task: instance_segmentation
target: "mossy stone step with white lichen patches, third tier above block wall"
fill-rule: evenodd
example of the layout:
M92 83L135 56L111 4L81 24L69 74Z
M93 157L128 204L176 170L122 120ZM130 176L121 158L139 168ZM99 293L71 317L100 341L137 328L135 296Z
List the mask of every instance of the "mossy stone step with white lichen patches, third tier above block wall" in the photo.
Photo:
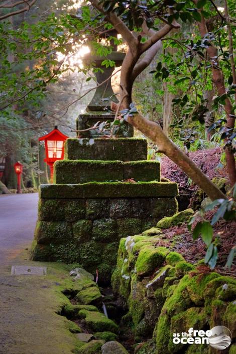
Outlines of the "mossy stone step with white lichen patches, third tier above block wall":
M146 139L67 139L65 159L68 160L147 160Z

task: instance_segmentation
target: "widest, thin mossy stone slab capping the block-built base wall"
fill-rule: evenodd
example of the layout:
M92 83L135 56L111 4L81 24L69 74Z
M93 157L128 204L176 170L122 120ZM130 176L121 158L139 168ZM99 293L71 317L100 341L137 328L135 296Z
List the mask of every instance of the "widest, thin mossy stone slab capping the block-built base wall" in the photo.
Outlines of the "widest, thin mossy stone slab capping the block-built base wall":
M41 184L40 198L149 198L175 197L177 183L172 182L89 182L83 184Z

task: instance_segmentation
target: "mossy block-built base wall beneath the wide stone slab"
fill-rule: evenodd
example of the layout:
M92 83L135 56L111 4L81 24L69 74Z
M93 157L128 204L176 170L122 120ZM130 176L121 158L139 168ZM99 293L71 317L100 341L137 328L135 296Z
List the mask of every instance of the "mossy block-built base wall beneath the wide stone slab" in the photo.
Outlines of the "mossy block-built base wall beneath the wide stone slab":
M156 225L177 207L175 198L41 198L33 259L78 262L108 281L120 239Z

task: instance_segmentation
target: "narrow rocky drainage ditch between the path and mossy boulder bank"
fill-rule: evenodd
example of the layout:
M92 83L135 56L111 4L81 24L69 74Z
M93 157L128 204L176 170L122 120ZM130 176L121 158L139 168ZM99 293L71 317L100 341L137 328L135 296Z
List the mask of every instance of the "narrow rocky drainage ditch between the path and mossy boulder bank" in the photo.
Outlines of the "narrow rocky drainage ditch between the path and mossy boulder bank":
M81 302L78 301L77 290L64 290L62 293L69 299L71 307L68 305L64 305L60 312L58 312L58 314L65 316L67 319L73 321L79 327L78 330L76 330L76 326L72 326L70 329L71 332L77 332L76 335L79 341L82 341L85 344L89 344L93 341L94 346L95 340L103 340L103 342L118 341L126 348L129 353L133 354L135 343L134 333L132 331L132 322L129 319L129 315L127 315L128 309L124 303L124 300L119 296L114 296L110 286L106 285L106 287L98 288L95 282L92 283L93 284L91 284L90 282L90 286L89 284L86 284L85 288L87 288L89 293L89 289L90 291L93 291L94 286L96 286L97 290L101 294L100 299L98 298L94 299L91 302L89 301L89 304L84 304L83 302L83 304L81 305ZM88 316L86 316L87 314ZM97 314L99 315L98 317L102 315L103 318L105 316L106 319L110 321L110 324L108 323L108 321L106 323L104 322L103 324L99 324L99 318L95 319L95 322L92 322L92 320L89 321L89 314L91 314L92 316L95 316L95 314ZM117 330L113 330L114 326L112 327L111 322L113 322ZM84 346L84 348L81 347L81 349L79 348L78 351L75 350L75 352L78 352L79 354L85 354L87 353L87 350ZM95 353L95 351L91 352ZM112 351L109 351L109 353L112 354ZM123 353L122 350L121 353Z

